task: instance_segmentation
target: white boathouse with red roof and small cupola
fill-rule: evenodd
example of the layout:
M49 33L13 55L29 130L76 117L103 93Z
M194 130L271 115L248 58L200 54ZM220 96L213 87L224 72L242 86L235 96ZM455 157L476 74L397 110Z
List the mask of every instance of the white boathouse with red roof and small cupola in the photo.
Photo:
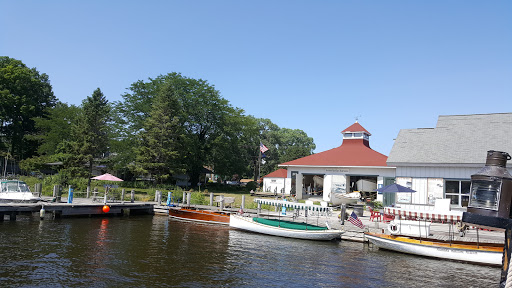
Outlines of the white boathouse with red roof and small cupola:
M287 169L285 194L297 199L320 196L331 202L332 193L360 191L375 197L378 185L394 182L395 168L387 156L370 148L370 132L357 121L341 132L342 144L279 166Z

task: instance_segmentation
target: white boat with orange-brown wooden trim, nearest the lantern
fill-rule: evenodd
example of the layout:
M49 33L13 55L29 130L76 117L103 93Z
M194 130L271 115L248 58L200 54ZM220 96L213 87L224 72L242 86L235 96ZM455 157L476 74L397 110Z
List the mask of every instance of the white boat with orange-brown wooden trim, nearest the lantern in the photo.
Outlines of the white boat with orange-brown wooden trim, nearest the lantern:
M470 263L501 266L504 244L442 241L366 232L365 237L382 249L402 253L456 260Z

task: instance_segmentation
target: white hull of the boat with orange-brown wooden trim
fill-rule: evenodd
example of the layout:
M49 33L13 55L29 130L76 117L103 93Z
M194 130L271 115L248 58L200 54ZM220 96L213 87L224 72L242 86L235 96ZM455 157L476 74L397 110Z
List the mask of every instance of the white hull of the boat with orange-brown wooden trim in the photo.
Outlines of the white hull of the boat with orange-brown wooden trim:
M379 248L441 259L480 263L487 265L501 265L503 252L482 251L472 249L459 249L452 247L428 246L414 243L404 243L397 240L365 235L370 242Z

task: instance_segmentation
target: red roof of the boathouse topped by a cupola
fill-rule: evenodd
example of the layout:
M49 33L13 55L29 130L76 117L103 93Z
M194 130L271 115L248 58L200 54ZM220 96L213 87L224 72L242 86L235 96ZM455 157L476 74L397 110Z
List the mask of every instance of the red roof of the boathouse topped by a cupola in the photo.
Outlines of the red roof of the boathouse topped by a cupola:
M357 124L357 123L356 123ZM354 125L352 125L354 126ZM352 127L351 126L351 127ZM350 128L350 127L349 127ZM347 128L347 129L349 129ZM364 128L363 128L364 129ZM361 130L359 130L360 132ZM282 163L283 166L387 166L388 156L369 147L363 139L345 139L337 148Z

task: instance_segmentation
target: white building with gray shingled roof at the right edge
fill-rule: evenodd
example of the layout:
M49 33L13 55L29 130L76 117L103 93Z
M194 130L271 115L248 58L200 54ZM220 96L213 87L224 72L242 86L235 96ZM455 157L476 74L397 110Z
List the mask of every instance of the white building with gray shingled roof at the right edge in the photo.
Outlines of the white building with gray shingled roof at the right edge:
M398 193L396 203L449 198L452 207L467 207L471 175L488 150L512 154L512 113L439 116L435 128L400 130L387 165L396 167L398 184L417 192Z

